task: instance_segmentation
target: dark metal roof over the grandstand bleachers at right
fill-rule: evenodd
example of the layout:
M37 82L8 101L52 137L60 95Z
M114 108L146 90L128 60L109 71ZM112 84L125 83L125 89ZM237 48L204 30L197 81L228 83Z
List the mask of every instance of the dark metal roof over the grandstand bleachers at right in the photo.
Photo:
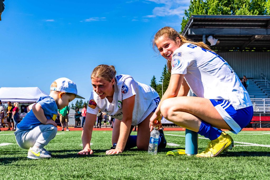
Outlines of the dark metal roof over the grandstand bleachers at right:
M192 15L182 35L196 42L212 35L219 52L229 50L270 50L270 16ZM206 44L210 43L206 40ZM255 48L255 49L254 49Z

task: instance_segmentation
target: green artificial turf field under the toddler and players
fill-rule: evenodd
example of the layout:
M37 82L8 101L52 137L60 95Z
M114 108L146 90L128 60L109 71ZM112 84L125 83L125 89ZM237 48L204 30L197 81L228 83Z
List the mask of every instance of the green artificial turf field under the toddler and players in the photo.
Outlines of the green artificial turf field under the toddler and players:
M167 151L184 149L183 132L165 131L180 135L165 135L168 143L178 145L160 149L157 155L136 148L121 155L105 155L111 147L112 131L94 131L91 148L95 154L86 157L77 155L82 150L81 131L59 131L45 147L52 158L37 160L26 158L27 150L16 144L12 133L0 133L0 179L270 179L270 132L230 133L236 142L268 147L235 143L232 151L219 157L196 158L166 156ZM207 144L208 140L199 139L199 152Z

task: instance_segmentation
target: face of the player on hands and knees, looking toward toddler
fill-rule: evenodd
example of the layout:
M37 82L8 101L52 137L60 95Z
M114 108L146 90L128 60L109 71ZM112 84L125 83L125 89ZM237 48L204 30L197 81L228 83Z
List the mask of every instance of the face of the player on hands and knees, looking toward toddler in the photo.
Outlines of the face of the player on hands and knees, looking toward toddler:
M97 93L100 99L105 97L113 97L114 93L114 79L112 81L107 81L103 78L92 78L93 90Z

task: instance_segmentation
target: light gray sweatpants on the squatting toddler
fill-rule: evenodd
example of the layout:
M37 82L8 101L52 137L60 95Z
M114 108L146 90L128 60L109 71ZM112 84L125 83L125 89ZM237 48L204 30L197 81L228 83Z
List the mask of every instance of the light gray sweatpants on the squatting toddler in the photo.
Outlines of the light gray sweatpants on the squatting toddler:
M17 128L15 137L17 144L23 149L29 149L34 145L40 148L46 146L57 133L57 127L51 124L41 124L30 130Z

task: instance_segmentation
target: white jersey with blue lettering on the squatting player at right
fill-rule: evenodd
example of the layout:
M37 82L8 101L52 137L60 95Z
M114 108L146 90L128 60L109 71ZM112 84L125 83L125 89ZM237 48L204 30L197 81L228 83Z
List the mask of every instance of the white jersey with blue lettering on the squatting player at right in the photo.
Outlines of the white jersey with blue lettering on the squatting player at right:
M198 97L228 100L235 110L252 106L234 70L214 52L185 43L174 51L171 66L171 74L185 74Z

